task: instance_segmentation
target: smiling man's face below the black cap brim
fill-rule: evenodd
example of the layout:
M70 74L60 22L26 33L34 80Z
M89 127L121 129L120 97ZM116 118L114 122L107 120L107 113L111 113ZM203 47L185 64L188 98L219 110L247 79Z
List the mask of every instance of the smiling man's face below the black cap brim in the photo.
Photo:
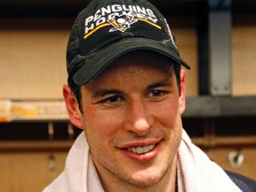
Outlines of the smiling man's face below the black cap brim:
M179 95L170 61L152 52L132 52L82 86L78 126L103 185L118 180L152 186L176 172L185 108L180 74Z

